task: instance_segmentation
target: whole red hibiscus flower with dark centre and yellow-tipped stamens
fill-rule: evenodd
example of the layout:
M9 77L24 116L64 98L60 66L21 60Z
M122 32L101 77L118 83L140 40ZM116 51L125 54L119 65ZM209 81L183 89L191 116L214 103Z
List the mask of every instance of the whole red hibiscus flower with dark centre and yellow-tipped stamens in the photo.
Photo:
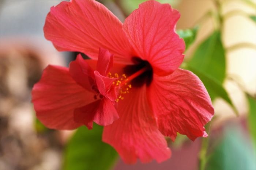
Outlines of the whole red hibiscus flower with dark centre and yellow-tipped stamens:
M204 125L214 109L199 78L178 68L185 49L174 32L179 17L169 4L157 1L140 4L124 24L93 0L52 7L44 26L46 39L59 51L79 51L92 60L78 57L69 69L45 69L32 92L38 119L56 129L91 128L92 121L106 125L103 141L127 163L169 158L164 136L173 141L177 132L191 140L206 137ZM110 54L99 48L114 55L113 69ZM89 65L95 67L97 59L92 72ZM125 75L116 74L117 80L106 76L109 70Z

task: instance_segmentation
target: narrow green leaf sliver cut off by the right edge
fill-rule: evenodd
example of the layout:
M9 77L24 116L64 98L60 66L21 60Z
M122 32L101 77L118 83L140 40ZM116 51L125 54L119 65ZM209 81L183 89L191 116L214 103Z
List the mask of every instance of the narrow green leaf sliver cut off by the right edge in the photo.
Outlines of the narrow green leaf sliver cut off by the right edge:
M256 99L247 96L249 103L248 124L256 147Z

